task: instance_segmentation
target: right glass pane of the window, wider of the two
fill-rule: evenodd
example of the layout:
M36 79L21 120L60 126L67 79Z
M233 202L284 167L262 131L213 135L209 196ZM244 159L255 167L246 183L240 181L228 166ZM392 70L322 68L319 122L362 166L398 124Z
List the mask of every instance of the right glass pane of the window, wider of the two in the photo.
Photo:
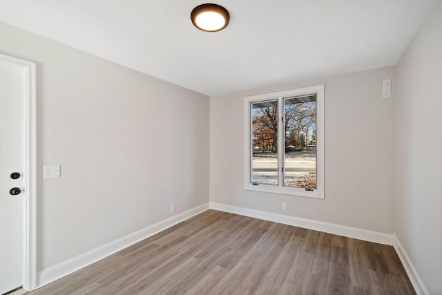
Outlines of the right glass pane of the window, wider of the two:
M284 185L316 188L316 95L284 100Z

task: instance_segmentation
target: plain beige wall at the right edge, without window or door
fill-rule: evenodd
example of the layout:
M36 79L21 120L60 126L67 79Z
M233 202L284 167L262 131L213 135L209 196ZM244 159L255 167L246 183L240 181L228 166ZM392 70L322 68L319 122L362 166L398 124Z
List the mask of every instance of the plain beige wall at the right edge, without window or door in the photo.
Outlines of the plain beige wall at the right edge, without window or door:
M394 231L430 294L442 294L442 2L398 64Z

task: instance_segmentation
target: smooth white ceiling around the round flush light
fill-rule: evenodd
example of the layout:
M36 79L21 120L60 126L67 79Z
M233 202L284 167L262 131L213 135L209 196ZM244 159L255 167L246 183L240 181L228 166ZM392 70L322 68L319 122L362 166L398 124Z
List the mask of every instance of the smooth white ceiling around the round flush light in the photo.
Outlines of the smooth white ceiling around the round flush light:
M398 62L435 0L0 0L0 21L206 95ZM209 3L213 3L209 1Z

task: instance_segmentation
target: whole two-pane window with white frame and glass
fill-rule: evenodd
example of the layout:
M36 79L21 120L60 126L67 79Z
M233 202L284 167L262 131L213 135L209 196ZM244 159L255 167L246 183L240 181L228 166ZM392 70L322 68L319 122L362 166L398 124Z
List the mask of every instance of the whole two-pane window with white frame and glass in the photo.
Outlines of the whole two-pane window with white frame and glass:
M324 198L324 85L244 97L244 189Z

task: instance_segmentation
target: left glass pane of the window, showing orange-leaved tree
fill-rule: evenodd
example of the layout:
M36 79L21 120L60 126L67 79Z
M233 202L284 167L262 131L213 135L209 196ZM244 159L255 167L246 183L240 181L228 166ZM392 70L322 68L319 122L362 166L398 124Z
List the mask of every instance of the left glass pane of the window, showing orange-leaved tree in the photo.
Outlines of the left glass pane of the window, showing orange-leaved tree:
M278 185L278 100L251 104L251 182Z

